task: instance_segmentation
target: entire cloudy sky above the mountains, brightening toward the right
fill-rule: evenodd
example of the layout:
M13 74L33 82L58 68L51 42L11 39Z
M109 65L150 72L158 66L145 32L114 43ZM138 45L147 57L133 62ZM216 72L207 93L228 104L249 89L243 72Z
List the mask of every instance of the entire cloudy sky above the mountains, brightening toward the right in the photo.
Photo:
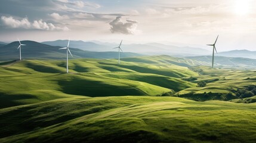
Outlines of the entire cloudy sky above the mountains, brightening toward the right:
M253 0L1 0L0 41L159 42L256 51Z

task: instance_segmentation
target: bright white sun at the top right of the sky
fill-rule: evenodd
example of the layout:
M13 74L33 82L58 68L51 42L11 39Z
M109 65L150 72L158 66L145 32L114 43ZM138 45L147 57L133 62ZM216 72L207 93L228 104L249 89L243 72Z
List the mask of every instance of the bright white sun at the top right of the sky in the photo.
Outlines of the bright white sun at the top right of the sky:
M249 13L249 1L248 0L236 0L235 13L238 15L246 15Z

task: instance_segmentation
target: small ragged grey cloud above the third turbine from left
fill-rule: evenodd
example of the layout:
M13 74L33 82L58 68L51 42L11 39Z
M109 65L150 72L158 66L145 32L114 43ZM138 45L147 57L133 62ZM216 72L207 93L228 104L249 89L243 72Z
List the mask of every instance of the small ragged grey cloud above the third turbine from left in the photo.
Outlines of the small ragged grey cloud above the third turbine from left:
M133 20L126 20L126 22L122 22L122 17L116 17L115 20L111 21L110 24L110 31L112 33L122 33L126 35L134 35L137 29L137 21Z

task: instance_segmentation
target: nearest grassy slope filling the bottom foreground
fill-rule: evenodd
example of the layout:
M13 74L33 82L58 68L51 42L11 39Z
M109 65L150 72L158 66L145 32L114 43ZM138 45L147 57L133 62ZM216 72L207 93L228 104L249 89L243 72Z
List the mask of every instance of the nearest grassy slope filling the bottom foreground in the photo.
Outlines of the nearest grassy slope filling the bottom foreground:
M1 109L0 142L254 142L255 110L176 97L62 98Z

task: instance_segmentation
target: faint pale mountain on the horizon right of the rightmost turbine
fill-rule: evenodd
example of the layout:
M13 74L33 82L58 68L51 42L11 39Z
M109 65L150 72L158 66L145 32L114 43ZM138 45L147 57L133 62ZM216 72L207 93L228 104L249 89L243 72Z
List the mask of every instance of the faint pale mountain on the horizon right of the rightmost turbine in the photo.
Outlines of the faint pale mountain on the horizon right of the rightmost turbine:
M256 51L248 51L246 49L220 52L217 55L221 55L224 57L243 57L256 59Z

